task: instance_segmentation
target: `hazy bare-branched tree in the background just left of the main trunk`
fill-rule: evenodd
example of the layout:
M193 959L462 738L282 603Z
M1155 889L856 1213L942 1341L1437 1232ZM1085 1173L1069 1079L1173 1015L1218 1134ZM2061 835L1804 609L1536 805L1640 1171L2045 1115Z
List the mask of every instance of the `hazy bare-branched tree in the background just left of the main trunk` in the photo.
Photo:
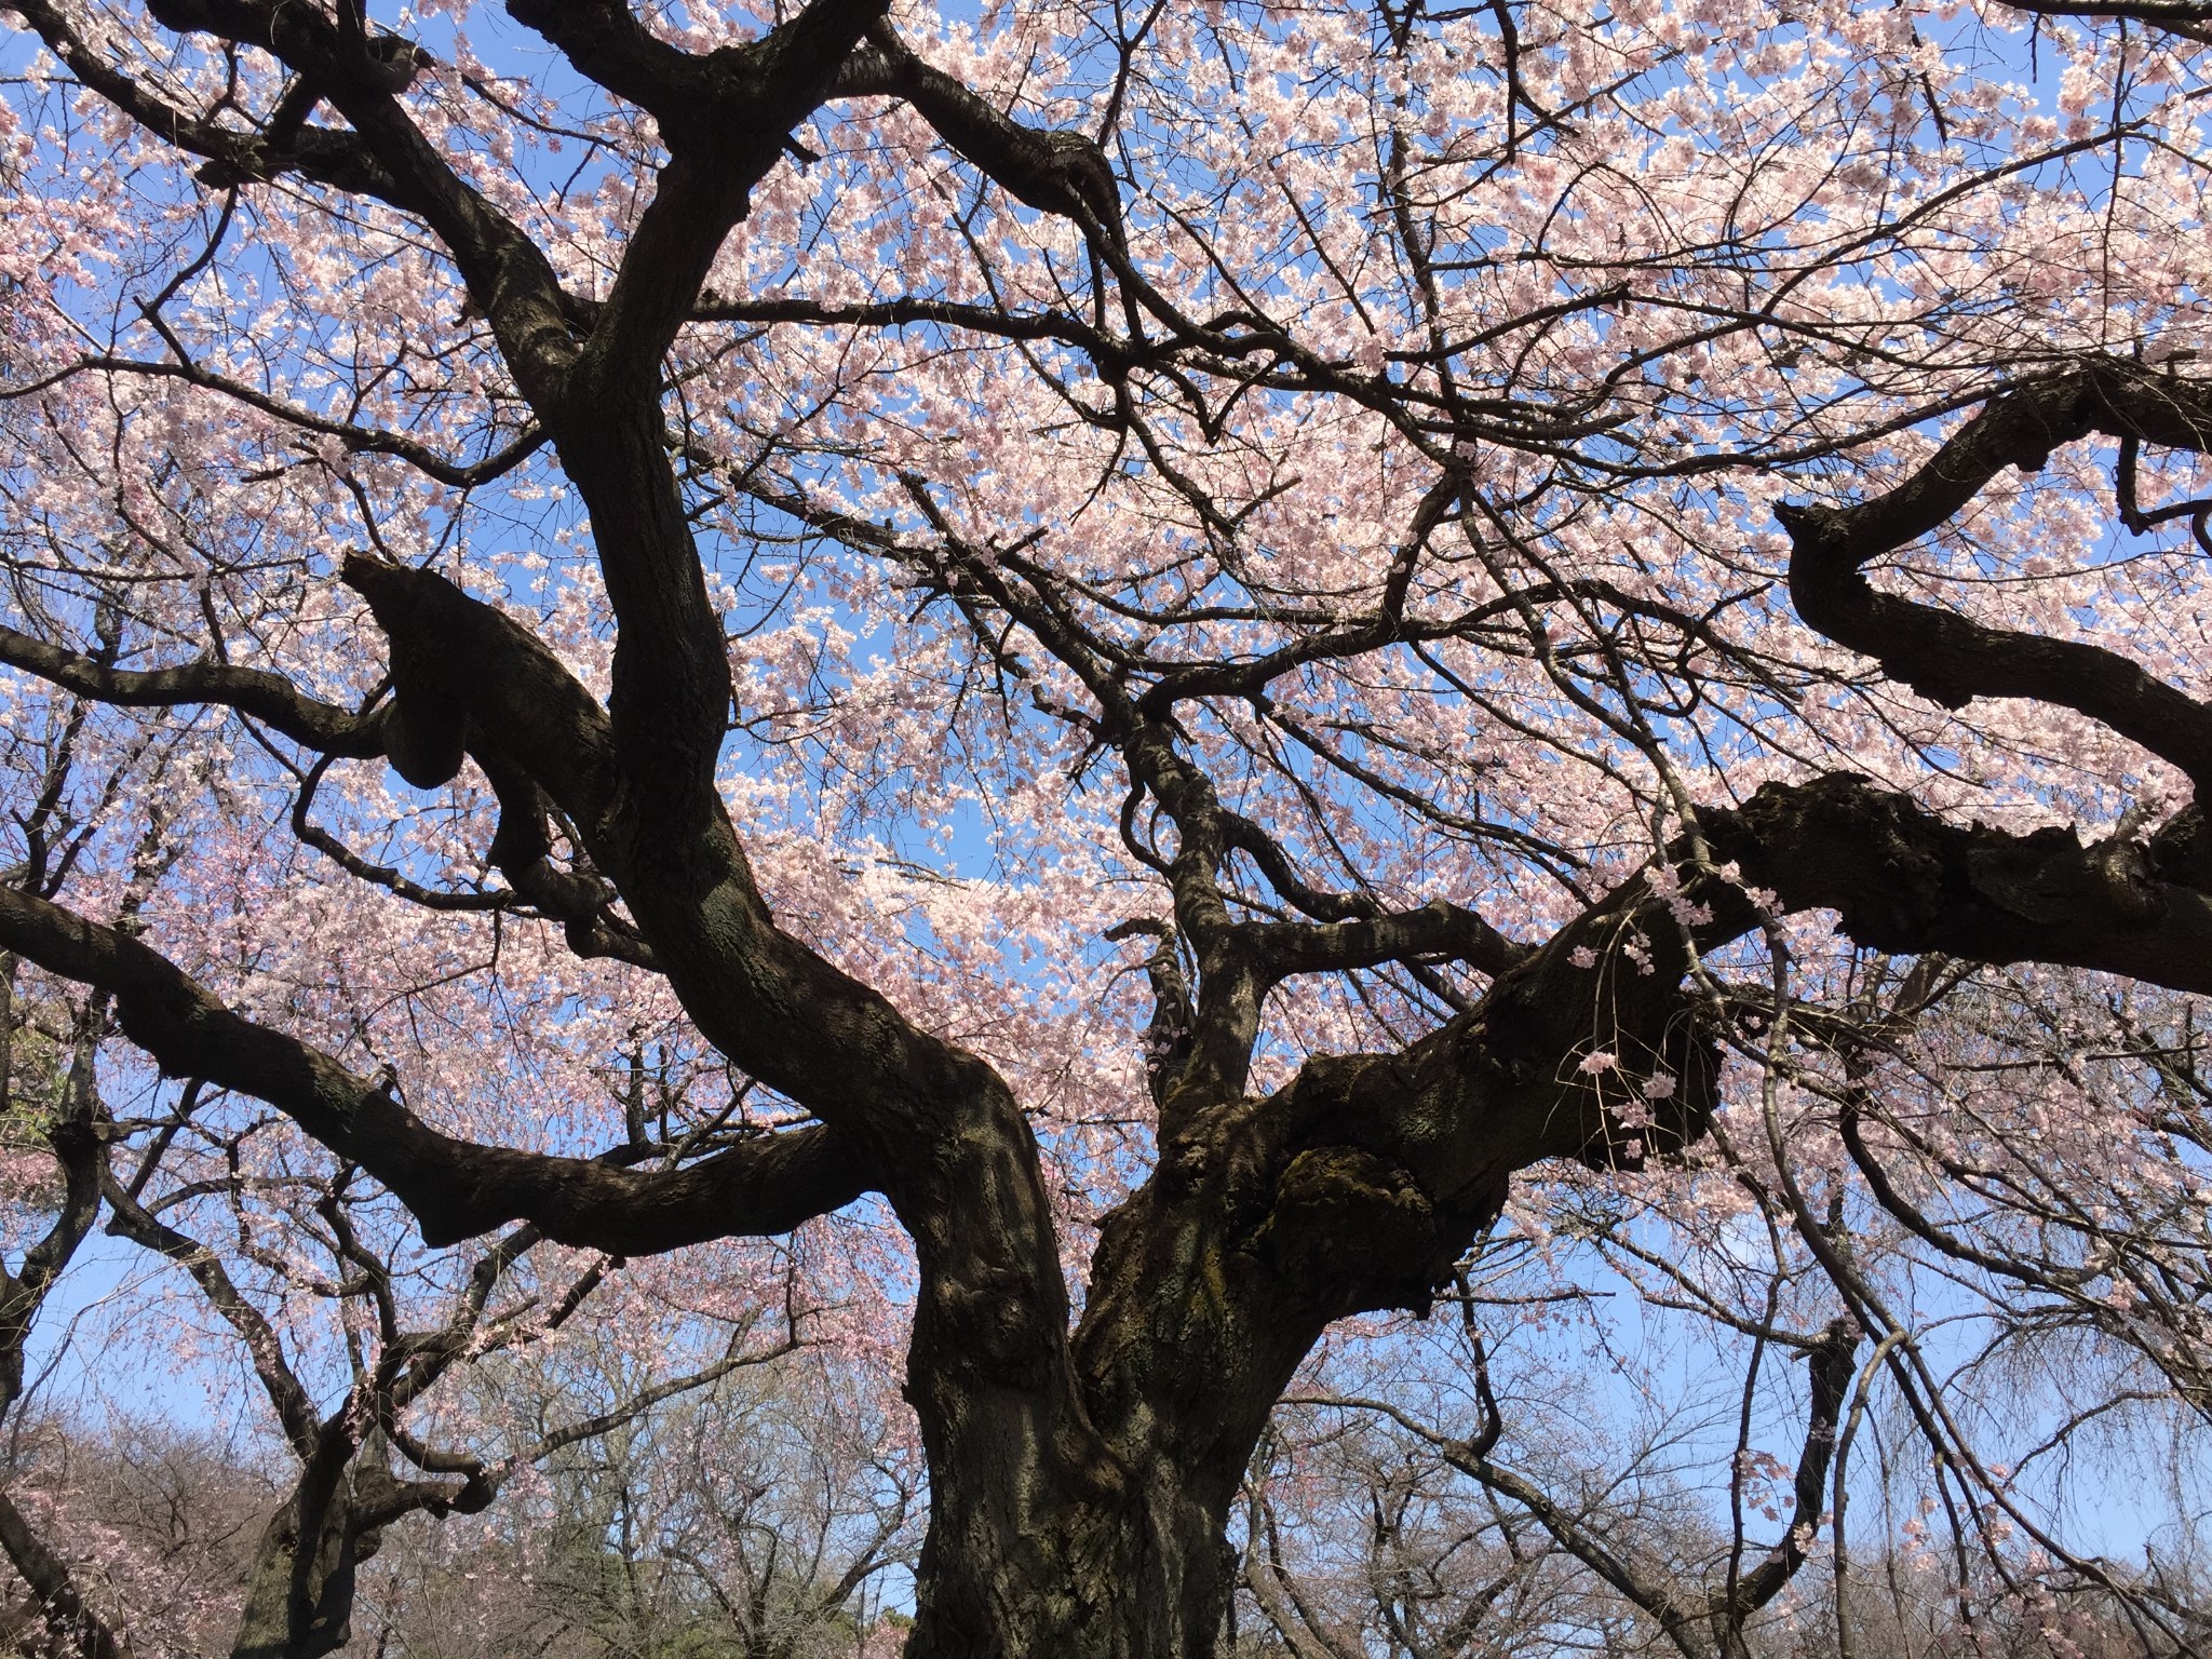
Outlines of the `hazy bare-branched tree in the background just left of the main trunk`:
M914 1566L918 1458L821 1358L672 1398L549 1458L476 1528L407 1535L365 1584L378 1641L398 1655L878 1650L885 1601Z

